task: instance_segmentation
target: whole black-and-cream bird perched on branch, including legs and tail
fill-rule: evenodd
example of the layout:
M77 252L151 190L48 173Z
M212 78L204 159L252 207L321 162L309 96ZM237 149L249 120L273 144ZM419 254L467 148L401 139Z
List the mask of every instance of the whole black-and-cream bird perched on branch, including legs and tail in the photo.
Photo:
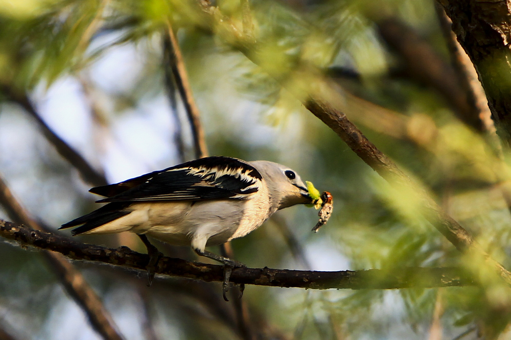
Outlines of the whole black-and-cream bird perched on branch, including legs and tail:
M243 264L208 252L206 246L247 235L277 210L312 202L289 167L226 156L195 159L89 191L105 197L97 203L107 204L59 229L77 227L72 235L133 232L152 256L148 268L161 253L147 236L191 246L198 255L224 264L224 299L230 272ZM148 274L151 282L154 273Z

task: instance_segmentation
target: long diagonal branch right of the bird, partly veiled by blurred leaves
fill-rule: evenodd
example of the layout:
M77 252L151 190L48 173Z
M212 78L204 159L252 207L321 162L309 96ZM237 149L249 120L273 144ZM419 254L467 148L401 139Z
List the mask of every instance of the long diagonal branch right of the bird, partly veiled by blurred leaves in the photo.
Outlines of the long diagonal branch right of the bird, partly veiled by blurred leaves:
M342 113L339 106L339 95L334 85L324 80L319 70L314 69L306 61L292 64L294 68L276 69L264 62L262 43L255 42L251 37L244 37L236 29L230 19L224 16L216 7L202 3L204 20L210 29L219 34L224 41L238 48L253 63L262 67L268 74L281 83L283 87L293 93L301 103L318 117L324 124L330 127L367 165L373 168L381 177L394 186L407 188L415 193L415 197L422 204L422 214L442 235L444 235L457 250L470 253L478 260L483 261L485 266L492 268L508 286L511 286L511 273L499 262L487 254L475 241L472 235L449 216L429 195L422 189L418 189L412 180L376 145L371 143L362 132ZM296 74L291 78L291 74ZM299 76L298 76L299 75ZM478 279L484 280L482 272L478 273Z

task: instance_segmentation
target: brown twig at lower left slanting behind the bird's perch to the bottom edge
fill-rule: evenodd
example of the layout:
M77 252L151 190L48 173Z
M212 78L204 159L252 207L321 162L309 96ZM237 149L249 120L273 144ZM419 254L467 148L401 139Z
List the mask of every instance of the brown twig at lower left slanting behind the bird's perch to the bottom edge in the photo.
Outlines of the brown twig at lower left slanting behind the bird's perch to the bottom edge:
M36 232L36 230L39 232L42 229L14 198L9 187L1 177L0 204L5 207L13 220L32 228L22 227L27 233ZM76 303L87 314L92 327L107 340L122 340L123 337L116 329L110 314L75 266L61 254L50 251L44 251L42 254L57 274L67 293L73 297Z

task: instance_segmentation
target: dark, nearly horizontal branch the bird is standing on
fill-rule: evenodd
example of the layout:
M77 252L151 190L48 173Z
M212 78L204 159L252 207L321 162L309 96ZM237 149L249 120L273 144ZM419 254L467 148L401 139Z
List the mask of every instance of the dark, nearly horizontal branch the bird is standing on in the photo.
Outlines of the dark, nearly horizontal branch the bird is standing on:
M148 255L127 247L109 249L82 244L75 240L33 230L0 220L0 235L20 245L59 252L68 258L97 261L124 268L146 271ZM157 274L202 281L223 281L223 266L189 262L164 257L158 262ZM395 271L364 270L312 272L278 269L236 268L230 277L233 283L299 287L311 289L396 289L409 287L448 287L474 285L469 275L457 268L398 268Z

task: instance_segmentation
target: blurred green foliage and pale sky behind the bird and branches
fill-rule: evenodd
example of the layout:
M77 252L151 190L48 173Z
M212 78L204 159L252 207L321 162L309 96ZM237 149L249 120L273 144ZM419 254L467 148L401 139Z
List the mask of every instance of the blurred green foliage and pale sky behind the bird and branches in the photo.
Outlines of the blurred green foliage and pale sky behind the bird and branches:
M213 3L241 31L243 4ZM469 113L437 83L417 76L409 56L384 34L390 24L404 28L394 32L398 39L414 34L437 58L431 63L450 67L434 2L249 5L251 34L261 42L259 61L288 85L304 65L334 79L343 110L369 140L508 267L511 218L499 185L507 170L491 133L463 119ZM390 273L405 266L468 265L418 212L412 192L377 176L266 70L212 29L195 1L0 0L0 172L34 217L56 229L94 209L96 198L87 192L92 184L41 134L27 101L109 182L193 158L182 104L165 87L167 20L177 32L210 153L286 164L334 197L334 214L319 233L310 232L315 211L292 207L235 240L238 260L252 267ZM451 74L443 76L440 83L455 82ZM9 220L3 210L0 217ZM132 236L81 239L144 252ZM166 251L194 258L187 249ZM1 328L19 339L100 338L38 253L4 241L0 258ZM160 278L148 288L144 274L75 264L126 339L244 336L233 302L220 301L219 284ZM243 299L259 337L475 339L481 324L498 319L490 295L475 287L248 286Z

